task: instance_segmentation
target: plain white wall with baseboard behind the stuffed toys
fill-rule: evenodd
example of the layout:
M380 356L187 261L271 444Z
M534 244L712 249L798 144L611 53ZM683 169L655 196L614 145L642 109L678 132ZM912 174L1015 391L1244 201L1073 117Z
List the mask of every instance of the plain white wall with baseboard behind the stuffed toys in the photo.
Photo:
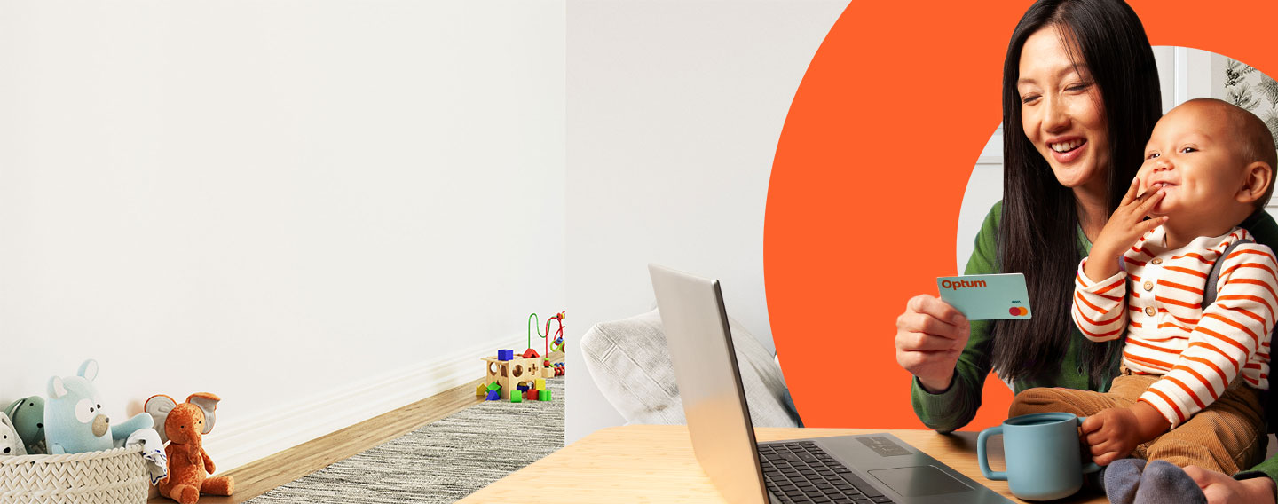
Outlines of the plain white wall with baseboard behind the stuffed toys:
M112 418L220 394L230 468L483 376L565 307L564 23L0 1L0 407L93 357Z

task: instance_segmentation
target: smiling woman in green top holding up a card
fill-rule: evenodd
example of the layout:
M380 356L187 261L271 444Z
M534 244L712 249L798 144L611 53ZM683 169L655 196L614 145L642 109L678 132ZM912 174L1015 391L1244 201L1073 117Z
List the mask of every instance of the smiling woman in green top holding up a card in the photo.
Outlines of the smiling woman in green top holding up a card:
M1074 275L1136 175L1160 110L1154 54L1126 4L1040 0L1025 13L1003 64L1003 201L985 217L965 274L1024 272L1034 317L969 322L935 297L911 298L897 319L897 362L915 376L924 425L948 432L970 422L990 370L1016 391L1108 388L1121 343L1091 343L1074 327ZM1268 214L1242 225L1278 244ZM1218 496L1273 501L1269 477L1199 476L1204 489L1218 485Z

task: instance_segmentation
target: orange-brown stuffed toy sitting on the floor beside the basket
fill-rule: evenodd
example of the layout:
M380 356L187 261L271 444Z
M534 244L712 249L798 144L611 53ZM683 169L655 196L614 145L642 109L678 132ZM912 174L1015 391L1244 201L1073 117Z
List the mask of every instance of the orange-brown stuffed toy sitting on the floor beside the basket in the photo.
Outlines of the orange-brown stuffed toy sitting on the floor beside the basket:
M178 404L167 395L152 395L143 407L155 418L161 436L169 440L169 477L160 480L160 495L181 504L199 501L199 494L231 495L235 481L230 476L208 477L215 469L213 459L203 448L203 435L213 430L217 395L190 394Z

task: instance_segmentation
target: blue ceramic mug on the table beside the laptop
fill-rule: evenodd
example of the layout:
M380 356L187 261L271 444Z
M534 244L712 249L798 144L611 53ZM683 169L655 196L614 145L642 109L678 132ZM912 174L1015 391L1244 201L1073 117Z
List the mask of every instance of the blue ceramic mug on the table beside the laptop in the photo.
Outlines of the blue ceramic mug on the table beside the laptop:
M1022 414L980 431L976 437L980 473L1007 481L1012 495L1025 500L1074 495L1082 487L1082 475L1100 471L1095 462L1084 464L1079 455L1079 426L1084 418L1072 413ZM989 469L985 443L997 435L1003 436L1006 472Z

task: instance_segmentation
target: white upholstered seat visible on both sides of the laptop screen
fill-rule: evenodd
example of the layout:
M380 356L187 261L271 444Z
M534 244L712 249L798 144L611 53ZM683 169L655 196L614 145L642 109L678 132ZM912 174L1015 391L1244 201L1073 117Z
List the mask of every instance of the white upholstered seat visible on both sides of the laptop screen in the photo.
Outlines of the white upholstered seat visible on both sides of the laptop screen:
M745 327L728 319L741 385L755 427L797 427L786 406L781 367ZM581 353L596 385L629 423L685 423L661 315L653 310L602 322L581 338Z

